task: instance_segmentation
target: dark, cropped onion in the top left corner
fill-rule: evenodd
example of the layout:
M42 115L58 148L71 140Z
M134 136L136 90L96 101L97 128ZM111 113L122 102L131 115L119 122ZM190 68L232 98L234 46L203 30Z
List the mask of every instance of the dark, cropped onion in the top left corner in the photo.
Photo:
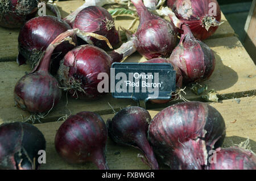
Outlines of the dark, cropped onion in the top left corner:
M20 28L35 16L38 10L38 0L1 0L0 26L5 28Z

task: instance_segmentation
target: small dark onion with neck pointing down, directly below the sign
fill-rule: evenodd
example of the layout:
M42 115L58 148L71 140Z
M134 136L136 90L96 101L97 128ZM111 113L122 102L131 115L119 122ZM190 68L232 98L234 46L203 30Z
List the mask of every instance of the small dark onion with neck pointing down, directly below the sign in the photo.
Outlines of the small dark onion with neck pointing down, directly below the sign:
M107 121L109 137L121 145L134 146L143 151L151 169L159 169L154 152L147 140L147 129L151 116L141 107L123 108Z

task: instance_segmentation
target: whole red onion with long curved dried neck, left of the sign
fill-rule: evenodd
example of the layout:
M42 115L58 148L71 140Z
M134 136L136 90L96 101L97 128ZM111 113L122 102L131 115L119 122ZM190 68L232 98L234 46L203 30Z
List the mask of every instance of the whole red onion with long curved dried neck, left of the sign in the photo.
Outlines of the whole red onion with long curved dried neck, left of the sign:
M14 88L14 101L22 108L31 113L45 113L50 111L61 98L61 89L56 78L49 74L49 63L55 47L67 40L68 36L74 35L75 30L61 33L49 44L44 56L31 73L24 75L16 83ZM70 41L69 38L68 40ZM71 42L72 43L72 42Z

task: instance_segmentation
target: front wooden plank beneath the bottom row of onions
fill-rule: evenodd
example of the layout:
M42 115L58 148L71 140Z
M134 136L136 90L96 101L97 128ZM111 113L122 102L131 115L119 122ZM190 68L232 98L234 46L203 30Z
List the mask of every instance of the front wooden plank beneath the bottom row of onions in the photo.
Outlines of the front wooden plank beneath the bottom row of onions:
M224 100L222 103L209 103L216 108L224 117L226 124L226 138L224 146L232 146L250 139L251 150L256 151L256 98L241 98L238 104L235 100ZM154 117L160 110L150 110L151 117ZM102 115L106 121L114 114ZM237 120L234 123L234 120ZM46 137L46 164L42 164L41 169L97 169L93 163L69 164L59 157L55 151L54 139L57 129L62 121L54 123L35 124ZM110 169L149 169L137 154L141 151L129 146L119 146L108 139L106 160ZM141 153L142 154L142 153ZM167 167L161 167L167 169Z

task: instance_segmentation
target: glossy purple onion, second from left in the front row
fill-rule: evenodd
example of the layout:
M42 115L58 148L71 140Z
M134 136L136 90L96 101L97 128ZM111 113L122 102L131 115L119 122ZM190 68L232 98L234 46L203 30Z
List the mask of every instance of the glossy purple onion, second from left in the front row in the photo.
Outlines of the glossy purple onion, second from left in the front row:
M55 149L69 163L93 162L98 169L109 169L105 159L108 131L104 120L93 112L79 112L61 124Z

